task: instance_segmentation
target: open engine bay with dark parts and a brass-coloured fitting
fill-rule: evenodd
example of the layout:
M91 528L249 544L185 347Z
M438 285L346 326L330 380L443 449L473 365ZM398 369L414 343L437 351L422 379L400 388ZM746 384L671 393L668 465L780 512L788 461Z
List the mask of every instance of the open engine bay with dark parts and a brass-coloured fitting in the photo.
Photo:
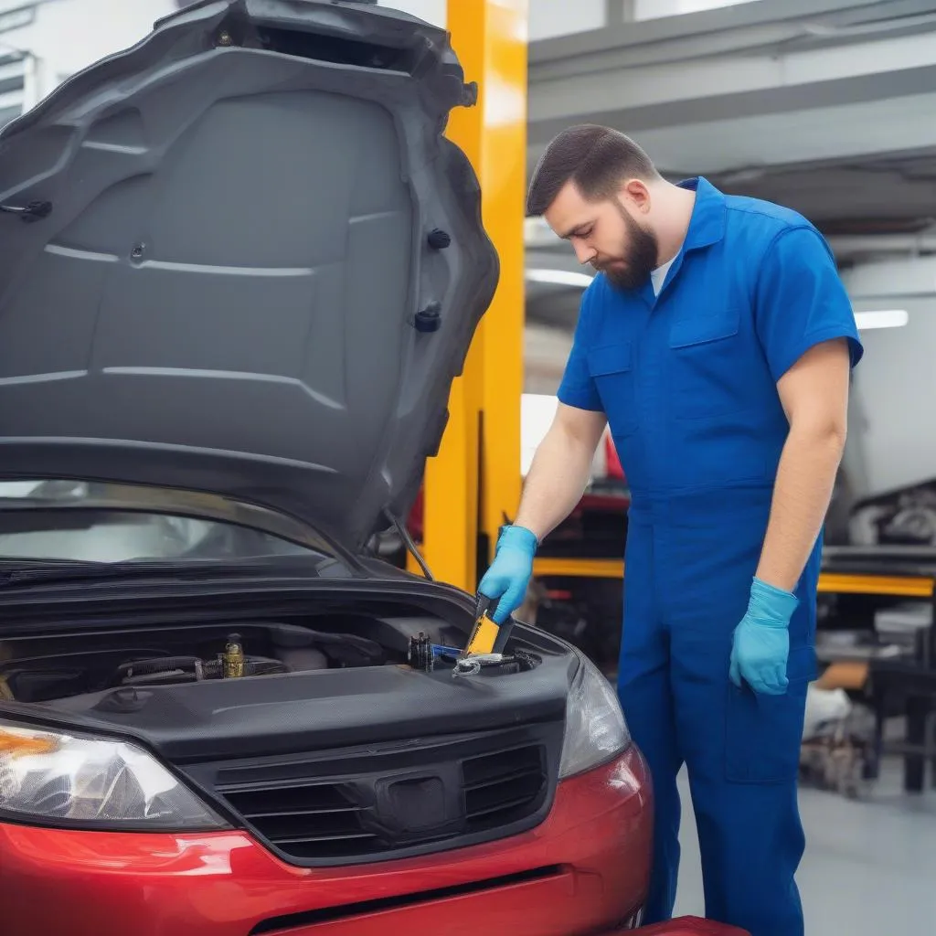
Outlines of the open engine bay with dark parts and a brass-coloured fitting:
M337 614L308 622L70 630L0 640L0 699L48 703L126 688L387 665L457 673L459 651L451 628L425 617ZM517 651L484 671L534 665L531 654Z

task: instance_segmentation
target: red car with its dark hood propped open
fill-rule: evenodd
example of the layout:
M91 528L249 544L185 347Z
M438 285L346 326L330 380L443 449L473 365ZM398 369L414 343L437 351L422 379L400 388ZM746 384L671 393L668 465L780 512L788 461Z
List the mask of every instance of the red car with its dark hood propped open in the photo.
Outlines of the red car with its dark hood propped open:
M497 281L473 102L392 10L205 0L0 134L4 936L636 926L607 680L373 555Z

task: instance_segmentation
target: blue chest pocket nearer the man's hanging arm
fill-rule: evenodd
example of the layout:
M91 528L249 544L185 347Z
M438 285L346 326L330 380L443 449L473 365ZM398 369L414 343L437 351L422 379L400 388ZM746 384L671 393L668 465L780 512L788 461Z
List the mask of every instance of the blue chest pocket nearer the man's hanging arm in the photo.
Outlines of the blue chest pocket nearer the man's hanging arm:
M677 419L729 416L751 404L745 392L750 349L741 334L741 311L740 306L705 310L673 323L670 387Z

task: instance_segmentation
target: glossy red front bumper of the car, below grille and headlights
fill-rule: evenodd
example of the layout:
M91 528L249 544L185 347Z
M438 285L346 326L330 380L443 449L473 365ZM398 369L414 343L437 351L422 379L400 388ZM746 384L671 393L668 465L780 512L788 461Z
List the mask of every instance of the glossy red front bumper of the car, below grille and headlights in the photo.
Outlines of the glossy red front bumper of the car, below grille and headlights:
M266 923L282 936L592 934L620 925L644 899L650 790L646 764L631 749L561 783L547 820L528 833L344 869L293 868L241 831L167 835L0 824L0 929L4 936L248 936L272 932L262 929ZM552 870L470 893L416 897L537 869ZM400 898L409 904L357 914L347 908ZM342 918L268 922L342 907Z

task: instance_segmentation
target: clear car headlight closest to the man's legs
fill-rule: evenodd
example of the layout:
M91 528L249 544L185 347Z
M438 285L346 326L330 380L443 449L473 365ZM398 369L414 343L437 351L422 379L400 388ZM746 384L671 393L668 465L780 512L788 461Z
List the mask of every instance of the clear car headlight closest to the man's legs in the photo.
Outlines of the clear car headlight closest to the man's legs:
M598 767L631 743L614 688L588 657L576 651L578 673L565 703L565 739L559 779Z

